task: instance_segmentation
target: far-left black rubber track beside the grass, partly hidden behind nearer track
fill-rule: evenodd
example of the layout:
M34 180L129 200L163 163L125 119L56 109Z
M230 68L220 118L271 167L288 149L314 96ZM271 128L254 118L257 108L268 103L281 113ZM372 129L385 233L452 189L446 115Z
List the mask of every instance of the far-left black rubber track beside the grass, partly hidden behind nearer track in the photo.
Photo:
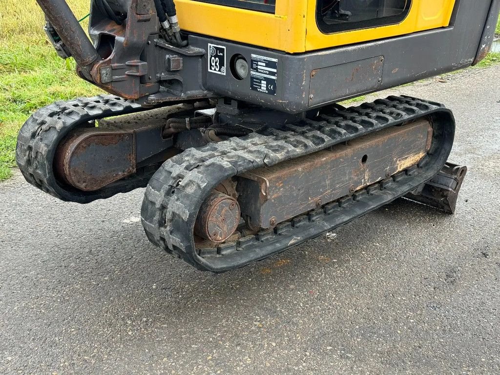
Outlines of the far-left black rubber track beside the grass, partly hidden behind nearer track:
M88 203L127 192L147 183L152 171L144 176L122 179L103 189L83 192L59 184L52 163L59 142L74 128L89 121L146 110L139 104L113 95L56 101L34 112L17 136L15 159L24 178L39 189L65 201Z

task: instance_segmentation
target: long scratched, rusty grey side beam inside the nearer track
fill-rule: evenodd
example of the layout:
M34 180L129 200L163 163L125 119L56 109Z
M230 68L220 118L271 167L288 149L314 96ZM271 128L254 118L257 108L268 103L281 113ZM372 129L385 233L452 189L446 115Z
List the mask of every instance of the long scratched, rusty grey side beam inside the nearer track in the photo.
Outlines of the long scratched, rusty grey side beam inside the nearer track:
M244 173L238 180L242 216L251 229L270 228L351 195L418 164L431 138L429 121L421 119Z

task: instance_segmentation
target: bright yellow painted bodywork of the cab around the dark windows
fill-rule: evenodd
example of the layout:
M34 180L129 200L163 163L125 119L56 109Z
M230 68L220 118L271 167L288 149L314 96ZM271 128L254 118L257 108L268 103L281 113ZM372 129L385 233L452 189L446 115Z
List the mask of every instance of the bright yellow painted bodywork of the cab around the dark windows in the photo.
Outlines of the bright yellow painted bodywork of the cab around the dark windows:
M413 0L406 18L395 25L322 33L316 0L276 0L275 14L175 0L182 29L289 53L359 43L449 25L455 0Z

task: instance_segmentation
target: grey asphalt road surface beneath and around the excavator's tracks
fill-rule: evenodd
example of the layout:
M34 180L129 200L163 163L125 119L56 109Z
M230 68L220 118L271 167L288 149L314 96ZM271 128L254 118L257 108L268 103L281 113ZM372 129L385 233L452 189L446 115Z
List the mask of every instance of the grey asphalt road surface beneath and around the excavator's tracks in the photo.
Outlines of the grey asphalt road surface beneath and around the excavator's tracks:
M454 111L455 215L397 200L219 275L149 244L142 190L78 205L16 173L0 184L0 373L500 373L499 80L389 92Z

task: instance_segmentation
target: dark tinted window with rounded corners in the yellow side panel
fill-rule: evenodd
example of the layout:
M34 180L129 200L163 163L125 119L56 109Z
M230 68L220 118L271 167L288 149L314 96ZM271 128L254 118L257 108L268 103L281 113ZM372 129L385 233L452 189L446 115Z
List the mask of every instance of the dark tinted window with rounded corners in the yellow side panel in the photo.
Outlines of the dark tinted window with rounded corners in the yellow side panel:
M317 24L324 33L401 22L411 0L318 0Z

